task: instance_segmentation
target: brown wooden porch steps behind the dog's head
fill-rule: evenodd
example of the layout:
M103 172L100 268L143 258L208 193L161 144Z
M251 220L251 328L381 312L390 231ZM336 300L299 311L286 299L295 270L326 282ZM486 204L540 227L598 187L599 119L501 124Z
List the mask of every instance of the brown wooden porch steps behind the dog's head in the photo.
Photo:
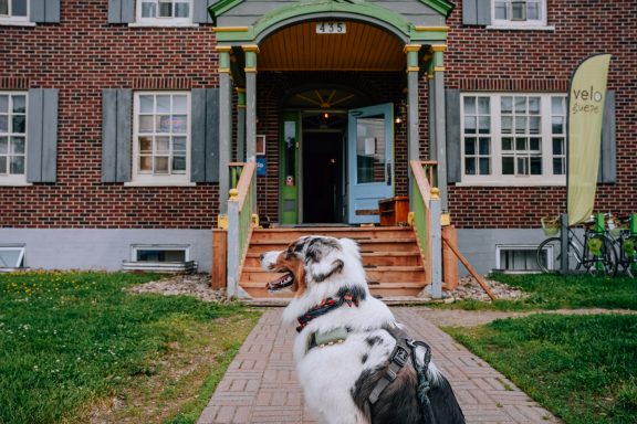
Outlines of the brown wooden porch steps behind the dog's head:
M239 278L252 298L292 297L290 292L270 295L265 283L281 274L261 269L259 255L268 251L282 251L303 235L328 235L353 239L361 246L363 266L372 294L382 298L417 296L427 285L427 275L411 227L285 227L254 229Z

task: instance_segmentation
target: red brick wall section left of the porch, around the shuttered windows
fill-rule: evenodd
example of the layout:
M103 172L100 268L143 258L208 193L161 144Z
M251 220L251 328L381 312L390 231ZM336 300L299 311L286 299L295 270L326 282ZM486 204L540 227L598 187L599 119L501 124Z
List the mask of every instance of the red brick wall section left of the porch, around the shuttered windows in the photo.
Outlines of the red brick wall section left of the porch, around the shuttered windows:
M101 182L102 88L217 86L212 26L108 24L107 4L64 0L59 24L0 26L0 89L60 88L58 181L0 187L0 226L212 227L217 184Z

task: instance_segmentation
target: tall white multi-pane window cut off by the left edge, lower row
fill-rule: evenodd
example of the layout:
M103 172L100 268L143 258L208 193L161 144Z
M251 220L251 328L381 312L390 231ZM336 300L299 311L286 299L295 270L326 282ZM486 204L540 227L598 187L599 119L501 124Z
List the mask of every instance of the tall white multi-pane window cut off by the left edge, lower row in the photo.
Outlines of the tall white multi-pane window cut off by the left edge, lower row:
M0 182L27 182L27 94L0 92Z

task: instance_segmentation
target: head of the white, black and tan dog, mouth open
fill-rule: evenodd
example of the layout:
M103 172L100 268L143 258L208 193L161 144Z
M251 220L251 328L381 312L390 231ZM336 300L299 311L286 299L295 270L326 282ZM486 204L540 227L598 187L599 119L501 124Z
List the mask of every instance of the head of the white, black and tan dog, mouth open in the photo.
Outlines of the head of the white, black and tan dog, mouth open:
M307 235L292 242L284 251L262 254L261 267L285 273L267 284L270 292L291 286L292 292L301 296L306 288L341 276L347 261L361 264L358 246L352 240Z

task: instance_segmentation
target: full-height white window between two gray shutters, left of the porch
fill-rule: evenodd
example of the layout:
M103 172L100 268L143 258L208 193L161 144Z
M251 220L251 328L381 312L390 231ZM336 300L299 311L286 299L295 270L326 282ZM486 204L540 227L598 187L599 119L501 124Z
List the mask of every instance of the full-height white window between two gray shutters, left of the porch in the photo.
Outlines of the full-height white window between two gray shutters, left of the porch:
M134 182L189 182L190 94L135 95Z

